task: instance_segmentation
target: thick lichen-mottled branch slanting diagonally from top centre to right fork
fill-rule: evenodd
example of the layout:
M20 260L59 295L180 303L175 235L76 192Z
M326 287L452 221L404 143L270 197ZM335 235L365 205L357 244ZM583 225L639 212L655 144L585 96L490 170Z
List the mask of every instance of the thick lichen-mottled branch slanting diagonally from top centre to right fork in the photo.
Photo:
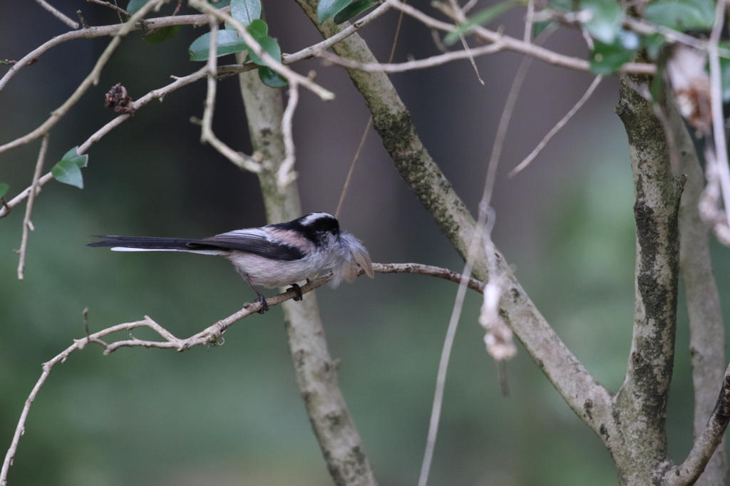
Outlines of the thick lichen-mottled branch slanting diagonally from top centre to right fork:
M297 3L325 38L337 34L339 28L331 21L318 24L315 0L297 0ZM399 2L391 4L402 5ZM360 63L376 62L357 34L334 45L333 49L342 58L350 58ZM410 121L410 114L390 80L382 72L369 73L356 69L349 69L348 72L356 88L366 99L372 113L373 125L383 139L383 145L393 158L401 177L415 191L423 207L431 212L442 233L450 239L462 258L466 258L468 245L475 231L475 221L423 147ZM573 411L604 442L610 443L615 436L612 434L615 428L610 394L593 379L550 328L512 275L499 251L496 251L495 256L498 268L507 276L500 304L504 319ZM486 261L484 252L477 255L474 273L480 280L488 278Z

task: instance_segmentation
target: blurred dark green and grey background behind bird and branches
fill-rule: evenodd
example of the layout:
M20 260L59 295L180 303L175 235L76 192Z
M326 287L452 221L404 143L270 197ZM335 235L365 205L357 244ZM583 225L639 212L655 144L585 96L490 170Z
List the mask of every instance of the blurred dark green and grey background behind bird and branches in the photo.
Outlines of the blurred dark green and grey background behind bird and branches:
M57 0L67 15L118 21L104 7ZM418 7L434 13L425 1ZM318 42L293 1L266 1L269 31L284 52ZM170 9L167 6L166 9ZM66 31L35 2L3 2L0 59L18 59ZM397 15L363 32L387 58ZM520 35L520 13L503 20ZM187 47L204 28L183 27L164 45L131 34L50 136L47 168L114 115L104 93L122 82L137 99L198 69ZM0 143L28 133L89 72L109 39L66 42L0 92ZM580 35L548 47L585 55ZM396 61L434 53L410 19ZM399 74L393 82L419 134L458 193L475 209L504 98L520 56L464 61ZM234 62L223 58L223 63ZM366 126L364 103L342 69L307 61L297 71L337 93L324 104L302 93L295 117L304 212L334 212ZM7 66L0 66L0 74ZM599 381L617 390L631 341L634 223L626 136L613 105L616 80L593 99L518 177L506 173L580 97L591 78L534 63L518 102L497 179L494 238L529 295ZM215 130L250 153L235 77L220 82ZM204 86L154 101L89 150L85 189L50 182L37 198L26 278L15 276L24 205L0 221L0 444L5 450L41 364L84 335L82 309L98 331L150 315L190 336L239 309L252 292L222 258L90 249L91 234L202 237L265 223L257 180L199 144ZM0 155L0 182L15 196L31 180L39 144ZM393 170L371 133L340 217L377 262L462 262ZM728 250L713 248L721 296ZM415 275L378 275L318 290L339 382L380 485L413 485L420 471L434 383L456 286ZM726 306L727 301L723 301ZM520 347L508 365L510 397L477 325L471 293L456 335L430 485L615 485L601 441L575 417ZM728 309L725 309L728 315ZM688 330L680 298L669 448L691 447ZM280 309L234 325L220 347L177 353L89 346L58 365L37 398L10 485L330 485L296 387ZM137 337L152 337L140 331ZM123 337L123 336L120 336ZM718 384L719 386L719 384Z

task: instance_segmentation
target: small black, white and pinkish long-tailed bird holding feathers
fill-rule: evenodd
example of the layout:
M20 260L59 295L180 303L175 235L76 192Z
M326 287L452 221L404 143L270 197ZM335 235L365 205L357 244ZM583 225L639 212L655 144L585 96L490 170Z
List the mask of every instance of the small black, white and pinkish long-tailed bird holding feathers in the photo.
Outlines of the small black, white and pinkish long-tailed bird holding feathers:
M255 288L291 285L301 300L296 282L309 280L323 271L332 271L332 287L342 279L353 282L358 265L374 277L366 248L353 235L339 229L337 219L326 212L313 212L288 223L247 228L204 239L154 238L149 236L94 236L106 238L89 247L112 247L115 251L171 251L221 255L228 258L251 285L261 314L269 310L266 298ZM291 289L290 289L291 290Z

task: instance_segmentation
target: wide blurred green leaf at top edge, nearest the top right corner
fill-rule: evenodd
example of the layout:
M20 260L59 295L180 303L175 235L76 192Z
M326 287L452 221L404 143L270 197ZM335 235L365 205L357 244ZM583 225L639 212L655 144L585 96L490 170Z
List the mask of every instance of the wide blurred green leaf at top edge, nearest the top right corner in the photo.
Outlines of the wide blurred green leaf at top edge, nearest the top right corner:
M678 31L709 31L715 23L713 0L658 0L645 9L646 19Z

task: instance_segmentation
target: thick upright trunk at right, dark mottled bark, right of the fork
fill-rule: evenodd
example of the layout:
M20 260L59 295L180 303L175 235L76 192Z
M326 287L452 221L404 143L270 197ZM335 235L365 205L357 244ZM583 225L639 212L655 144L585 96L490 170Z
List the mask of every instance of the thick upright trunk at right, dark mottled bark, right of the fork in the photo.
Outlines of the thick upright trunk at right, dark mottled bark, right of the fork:
M623 80L616 112L629 137L637 259L631 355L616 396L625 444L612 454L619 477L636 484L648 481L667 460L664 425L675 352L677 212L684 180L672 177L666 136L652 107Z

